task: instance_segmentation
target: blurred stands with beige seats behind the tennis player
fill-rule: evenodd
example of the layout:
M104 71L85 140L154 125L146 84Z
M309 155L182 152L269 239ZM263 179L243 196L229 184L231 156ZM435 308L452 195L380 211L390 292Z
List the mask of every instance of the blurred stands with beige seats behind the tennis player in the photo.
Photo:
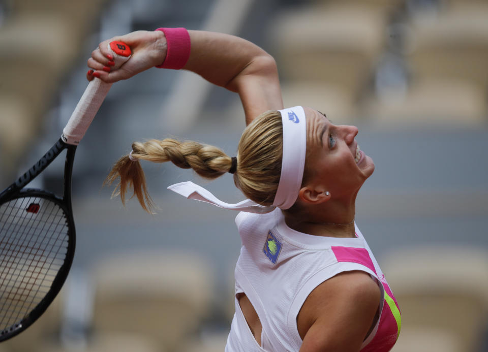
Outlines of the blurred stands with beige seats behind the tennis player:
M275 56L286 106L360 127L377 172L356 220L404 316L393 350L484 351L487 6L1 0L0 187L59 138L101 40L160 26L243 36ZM223 350L240 246L235 214L172 198L165 187L192 178L172 166L144 166L161 207L154 217L134 203L121 210L100 183L133 140L175 134L231 154L243 127L238 97L192 73L150 70L114 85L75 163L73 271L40 321L0 351ZM62 167L54 163L38 184L59 189ZM242 197L230 178L207 187ZM456 270L446 271L453 257Z

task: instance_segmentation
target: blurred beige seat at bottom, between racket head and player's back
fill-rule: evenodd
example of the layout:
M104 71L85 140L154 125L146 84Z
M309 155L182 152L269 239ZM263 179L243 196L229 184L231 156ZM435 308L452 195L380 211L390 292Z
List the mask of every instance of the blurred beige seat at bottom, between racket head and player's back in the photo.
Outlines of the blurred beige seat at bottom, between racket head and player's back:
M96 264L95 280L95 336L136 333L177 351L211 308L214 278L195 253L118 255Z

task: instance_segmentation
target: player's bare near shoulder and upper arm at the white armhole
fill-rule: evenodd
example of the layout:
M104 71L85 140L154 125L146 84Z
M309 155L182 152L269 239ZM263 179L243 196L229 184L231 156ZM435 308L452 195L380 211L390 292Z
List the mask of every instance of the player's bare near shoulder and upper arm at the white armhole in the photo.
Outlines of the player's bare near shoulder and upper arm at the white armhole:
M343 272L322 282L310 293L297 317L301 350L359 350L380 300L377 282L362 271Z

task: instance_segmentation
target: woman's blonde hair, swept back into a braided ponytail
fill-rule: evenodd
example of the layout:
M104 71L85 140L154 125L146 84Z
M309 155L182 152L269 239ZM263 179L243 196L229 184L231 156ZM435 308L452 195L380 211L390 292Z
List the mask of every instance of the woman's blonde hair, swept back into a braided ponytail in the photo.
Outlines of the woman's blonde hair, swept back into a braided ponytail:
M232 158L221 149L194 141L172 138L132 144L132 157L153 163L172 162L179 168L193 169L206 179L215 179L232 167ZM250 123L239 141L234 183L249 199L271 205L275 199L281 174L283 125L279 111L267 111ZM138 160L121 157L112 167L104 184L118 183L112 197L120 196L125 203L132 188L142 208L152 213L154 202L147 191L144 172Z

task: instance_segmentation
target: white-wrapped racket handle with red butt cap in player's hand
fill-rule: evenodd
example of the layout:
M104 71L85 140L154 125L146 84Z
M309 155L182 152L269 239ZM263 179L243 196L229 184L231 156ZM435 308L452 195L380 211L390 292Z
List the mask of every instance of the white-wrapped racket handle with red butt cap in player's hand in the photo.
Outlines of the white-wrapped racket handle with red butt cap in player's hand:
M112 51L116 67L131 57L131 49L123 42L110 42L108 47ZM68 124L63 129L61 138L65 143L72 145L80 143L111 86L112 83L105 83L99 78L94 78L88 83Z

